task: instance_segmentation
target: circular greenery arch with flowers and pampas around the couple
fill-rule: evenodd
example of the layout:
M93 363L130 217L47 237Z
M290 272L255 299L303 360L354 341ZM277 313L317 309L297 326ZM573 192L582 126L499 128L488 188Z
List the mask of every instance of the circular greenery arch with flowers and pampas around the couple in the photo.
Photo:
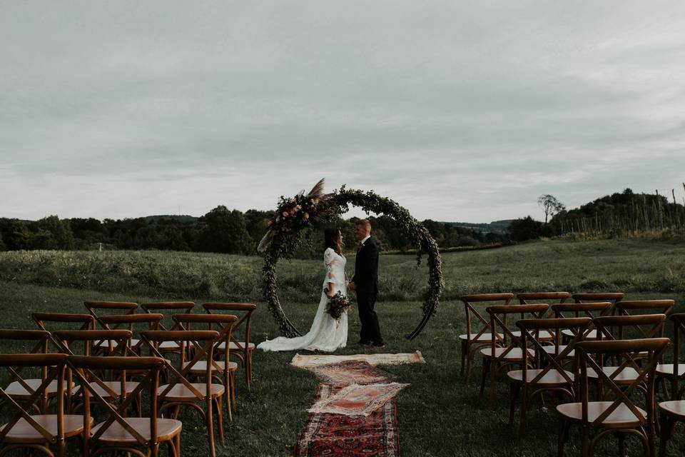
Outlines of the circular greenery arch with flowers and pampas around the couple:
M278 259L290 258L302 241L303 229L310 229L318 219L325 219L335 214L345 214L348 206L357 206L367 213L390 216L395 219L402 235L410 238L412 245L417 248L417 264L421 262L422 253L428 256L428 288L424 295L422 318L416 328L407 335L415 338L426 326L430 317L437 311L437 304L442 293L442 261L437 243L430 236L428 230L402 206L390 199L378 196L372 191L345 189L323 194L323 179L310 191L287 199L280 198L278 210L269 221L269 230L259 245L259 251L264 253L264 297L269 305L280 331L285 336L300 336L302 333L285 316L280 306L277 293L276 263Z

